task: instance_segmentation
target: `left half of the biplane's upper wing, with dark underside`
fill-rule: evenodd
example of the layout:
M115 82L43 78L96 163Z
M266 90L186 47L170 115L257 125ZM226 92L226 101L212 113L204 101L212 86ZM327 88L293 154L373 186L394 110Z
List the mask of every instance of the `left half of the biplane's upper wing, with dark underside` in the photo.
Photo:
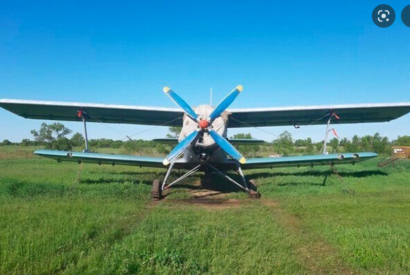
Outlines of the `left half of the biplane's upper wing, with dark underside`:
M16 99L1 99L0 107L24 118L80 121L78 111L83 110L90 122L141 125L181 126L184 115L184 112L175 108Z

